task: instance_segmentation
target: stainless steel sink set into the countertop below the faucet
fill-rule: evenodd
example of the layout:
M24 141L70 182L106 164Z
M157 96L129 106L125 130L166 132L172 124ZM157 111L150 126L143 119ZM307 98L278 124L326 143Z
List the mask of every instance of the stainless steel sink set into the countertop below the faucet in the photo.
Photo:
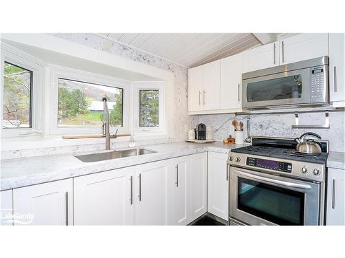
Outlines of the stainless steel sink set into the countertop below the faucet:
M115 158L126 158L130 156L144 155L155 153L156 151L149 151L148 149L126 149L124 151L110 151L86 155L75 155L75 158L82 162L96 162L101 160L112 160Z

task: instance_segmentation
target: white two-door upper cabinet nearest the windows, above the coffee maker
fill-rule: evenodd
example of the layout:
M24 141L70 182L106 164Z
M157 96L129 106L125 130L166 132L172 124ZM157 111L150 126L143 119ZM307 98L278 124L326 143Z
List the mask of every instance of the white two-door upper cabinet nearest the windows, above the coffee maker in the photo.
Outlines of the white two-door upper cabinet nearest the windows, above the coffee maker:
M188 111L220 108L220 60L188 70Z

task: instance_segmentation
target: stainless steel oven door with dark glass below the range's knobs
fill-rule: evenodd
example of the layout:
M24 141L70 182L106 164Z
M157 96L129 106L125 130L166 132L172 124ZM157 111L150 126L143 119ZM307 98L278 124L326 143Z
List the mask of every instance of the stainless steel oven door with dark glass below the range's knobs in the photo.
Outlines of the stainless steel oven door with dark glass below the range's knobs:
M230 167L229 216L248 225L318 225L320 185Z

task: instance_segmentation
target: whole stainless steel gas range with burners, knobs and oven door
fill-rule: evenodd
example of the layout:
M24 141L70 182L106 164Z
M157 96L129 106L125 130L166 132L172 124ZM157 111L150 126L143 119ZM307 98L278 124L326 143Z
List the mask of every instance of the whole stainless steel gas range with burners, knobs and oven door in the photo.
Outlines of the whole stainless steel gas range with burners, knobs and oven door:
M297 153L293 138L254 136L228 153L229 225L324 224L328 141Z

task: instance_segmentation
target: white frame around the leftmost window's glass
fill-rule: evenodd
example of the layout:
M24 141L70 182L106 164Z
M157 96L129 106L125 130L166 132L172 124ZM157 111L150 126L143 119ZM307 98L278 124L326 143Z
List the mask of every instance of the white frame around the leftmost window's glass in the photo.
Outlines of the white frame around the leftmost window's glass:
M3 76L4 63L11 63L32 72L30 85L30 126L23 128L3 128ZM43 67L44 63L20 50L1 43L1 138L25 137L43 134L42 107L43 107Z

